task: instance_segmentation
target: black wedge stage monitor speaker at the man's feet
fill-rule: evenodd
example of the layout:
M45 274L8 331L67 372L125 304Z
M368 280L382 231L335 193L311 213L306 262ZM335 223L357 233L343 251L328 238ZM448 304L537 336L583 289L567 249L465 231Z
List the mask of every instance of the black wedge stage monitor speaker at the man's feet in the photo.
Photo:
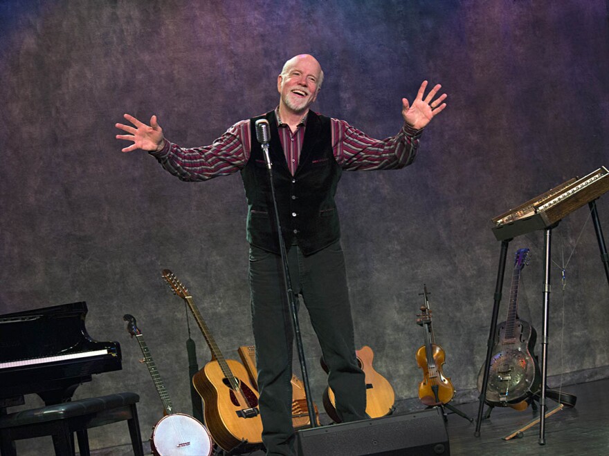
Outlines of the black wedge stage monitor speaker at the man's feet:
M298 456L450 455L439 408L299 430Z

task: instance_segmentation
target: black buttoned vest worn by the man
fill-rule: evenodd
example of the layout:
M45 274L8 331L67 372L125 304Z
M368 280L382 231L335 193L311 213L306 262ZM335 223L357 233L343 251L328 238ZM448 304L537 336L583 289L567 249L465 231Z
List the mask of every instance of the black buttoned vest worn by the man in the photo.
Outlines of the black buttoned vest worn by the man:
M329 117L309 111L305 140L296 173L287 166L275 111L251 119L251 156L241 171L248 201L247 240L267 251L280 253L269 170L256 140L255 122L266 118L271 126L269 150L273 185L286 248L294 238L305 255L313 254L340 238L334 195L342 169L332 153Z

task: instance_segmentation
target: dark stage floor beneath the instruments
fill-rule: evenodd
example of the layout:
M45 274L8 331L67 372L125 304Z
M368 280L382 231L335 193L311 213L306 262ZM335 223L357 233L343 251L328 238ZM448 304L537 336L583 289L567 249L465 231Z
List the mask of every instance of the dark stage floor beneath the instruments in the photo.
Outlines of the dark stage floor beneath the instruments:
M489 419L482 421L480 437L474 436L475 421L470 423L459 415L448 412L447 429L451 455L609 455L609 379L565 386L563 391L576 395L576 406L565 407L545 420L543 446L538 444L538 424L525 430L521 438L508 441L503 439L537 417L530 407L522 412L511 408L493 408ZM556 402L547 400L548 410L557 405ZM478 415L478 402L462 403L457 408L474 420ZM486 411L486 406L484 410ZM150 454L147 442L145 450ZM129 454L132 454L130 446L91 452L94 456ZM262 451L248 454L264 456Z

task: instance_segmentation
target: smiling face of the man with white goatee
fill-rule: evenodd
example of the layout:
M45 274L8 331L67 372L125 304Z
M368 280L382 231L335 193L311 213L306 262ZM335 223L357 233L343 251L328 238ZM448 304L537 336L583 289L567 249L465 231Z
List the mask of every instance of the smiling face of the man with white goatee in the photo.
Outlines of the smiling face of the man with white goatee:
M309 55L293 59L287 73L277 79L282 103L294 113L306 111L317 98L320 72L318 62Z

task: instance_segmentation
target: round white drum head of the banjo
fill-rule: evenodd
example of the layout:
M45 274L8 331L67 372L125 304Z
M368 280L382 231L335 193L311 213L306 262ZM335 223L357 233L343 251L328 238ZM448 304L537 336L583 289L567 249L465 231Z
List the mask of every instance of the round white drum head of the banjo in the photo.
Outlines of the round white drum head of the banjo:
M197 419L174 413L154 426L150 444L160 456L210 456L213 442L209 431Z

